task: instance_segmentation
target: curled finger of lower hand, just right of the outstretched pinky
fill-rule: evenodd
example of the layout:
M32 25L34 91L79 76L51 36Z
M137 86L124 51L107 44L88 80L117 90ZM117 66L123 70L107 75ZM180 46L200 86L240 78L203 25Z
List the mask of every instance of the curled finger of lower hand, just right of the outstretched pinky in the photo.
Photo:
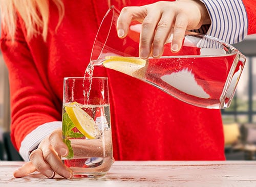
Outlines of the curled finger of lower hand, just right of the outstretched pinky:
M44 157L42 156L42 151L36 149L30 154L30 161L33 166L41 172L41 174L47 176L48 178L53 178L55 173L51 167L45 162Z

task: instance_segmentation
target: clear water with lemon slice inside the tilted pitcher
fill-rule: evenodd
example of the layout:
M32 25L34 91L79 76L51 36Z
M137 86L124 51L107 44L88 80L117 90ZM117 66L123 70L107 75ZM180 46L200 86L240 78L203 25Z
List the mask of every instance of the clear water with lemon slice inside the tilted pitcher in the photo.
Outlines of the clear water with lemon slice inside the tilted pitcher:
M147 60L111 56L105 57L100 63L91 62L89 66L103 65L138 78L189 104L220 109L225 108L223 103L232 97L233 87L244 65L242 62L232 63L236 56L161 57ZM231 82L227 83L229 78Z

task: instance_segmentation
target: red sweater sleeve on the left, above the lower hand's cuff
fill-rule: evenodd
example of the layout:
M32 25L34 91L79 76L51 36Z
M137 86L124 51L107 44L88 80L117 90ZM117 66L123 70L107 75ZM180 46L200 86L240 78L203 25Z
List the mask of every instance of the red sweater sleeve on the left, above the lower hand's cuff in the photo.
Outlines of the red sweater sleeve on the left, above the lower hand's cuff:
M1 49L9 70L11 139L17 150L25 137L39 125L61 121L61 111L59 107L57 109L54 95L47 85L46 72L36 65L36 57L31 54L24 28L20 25L17 25L14 42L3 28L1 35Z

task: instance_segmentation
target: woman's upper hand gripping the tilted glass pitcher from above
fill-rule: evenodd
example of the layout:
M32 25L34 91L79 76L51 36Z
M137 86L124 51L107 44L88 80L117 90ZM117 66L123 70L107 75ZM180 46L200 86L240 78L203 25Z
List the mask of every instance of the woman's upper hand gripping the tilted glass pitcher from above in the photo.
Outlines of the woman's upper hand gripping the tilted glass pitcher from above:
M204 4L199 0L157 2L141 7L125 7L117 22L117 33L124 38L132 20L142 22L140 34L140 57L152 55L159 58L163 45L173 33L172 51L178 52L187 30L199 29L209 24L210 18Z

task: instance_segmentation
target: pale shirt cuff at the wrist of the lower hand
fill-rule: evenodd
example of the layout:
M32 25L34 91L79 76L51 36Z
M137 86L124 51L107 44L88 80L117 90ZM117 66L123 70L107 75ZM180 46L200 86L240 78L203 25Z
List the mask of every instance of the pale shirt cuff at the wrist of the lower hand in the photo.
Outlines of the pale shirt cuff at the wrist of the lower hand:
M39 143L49 136L53 130L61 127L61 121L53 121L42 124L31 131L22 141L19 148L19 154L23 157L24 161L28 162L30 153L38 147Z

